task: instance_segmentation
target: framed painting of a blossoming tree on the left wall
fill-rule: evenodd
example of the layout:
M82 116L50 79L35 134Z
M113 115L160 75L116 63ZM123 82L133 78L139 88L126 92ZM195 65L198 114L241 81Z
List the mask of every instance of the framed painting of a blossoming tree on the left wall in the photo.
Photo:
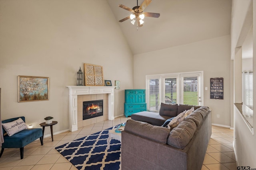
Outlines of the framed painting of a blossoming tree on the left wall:
M48 99L48 77L18 76L18 102Z

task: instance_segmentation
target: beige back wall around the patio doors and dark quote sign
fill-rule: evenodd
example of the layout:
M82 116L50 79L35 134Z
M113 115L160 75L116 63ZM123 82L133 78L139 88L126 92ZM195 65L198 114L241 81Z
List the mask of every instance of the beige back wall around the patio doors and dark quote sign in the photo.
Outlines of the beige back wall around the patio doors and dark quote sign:
M134 88L146 88L146 75L201 70L204 87L208 87L204 90L204 106L212 110L212 123L230 126L229 35L135 55ZM215 77L224 78L224 100L210 99L210 78Z

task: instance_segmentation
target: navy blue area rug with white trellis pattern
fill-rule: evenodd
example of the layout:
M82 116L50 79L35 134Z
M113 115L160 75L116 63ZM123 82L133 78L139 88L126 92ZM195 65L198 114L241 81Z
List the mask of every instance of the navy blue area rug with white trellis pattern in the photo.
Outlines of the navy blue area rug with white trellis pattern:
M112 139L107 149L108 131L116 127L118 125L55 149L79 170L120 170L121 142Z

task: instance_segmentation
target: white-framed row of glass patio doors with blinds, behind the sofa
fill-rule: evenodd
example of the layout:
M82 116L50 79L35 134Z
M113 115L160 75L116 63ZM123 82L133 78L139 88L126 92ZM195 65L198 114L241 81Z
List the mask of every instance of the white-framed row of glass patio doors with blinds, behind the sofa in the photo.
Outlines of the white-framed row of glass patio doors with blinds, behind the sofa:
M158 112L160 104L202 105L203 72L146 76L148 110Z

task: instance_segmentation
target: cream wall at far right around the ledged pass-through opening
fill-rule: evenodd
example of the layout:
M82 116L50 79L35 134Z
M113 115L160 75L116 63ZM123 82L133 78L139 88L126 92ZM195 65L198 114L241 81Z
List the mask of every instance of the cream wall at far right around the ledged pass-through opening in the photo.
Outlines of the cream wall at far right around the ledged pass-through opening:
M256 3L252 0L233 0L233 24L231 25L231 51L235 51L236 47L241 46L243 41L241 42L238 37L245 37L248 33L248 27L250 24L256 25ZM253 10L253 14L252 11ZM248 14L253 15L248 16ZM251 23L250 23L251 22ZM246 26L244 26L246 25ZM242 40L244 38L241 38ZM255 70L256 66L256 30L253 29L253 67ZM232 57L232 56L231 56ZM253 76L254 80L256 80L256 75ZM235 84L236 85L236 84ZM254 89L256 89L256 83L254 83ZM236 93L236 92L234 92ZM256 90L253 92L254 96L254 106L256 106ZM253 116L253 131L254 135L250 132L246 123L242 119L240 113L234 108L234 149L237 156L238 166L250 166L250 168L256 167L255 162L255 153L256 153L256 111L254 109Z

